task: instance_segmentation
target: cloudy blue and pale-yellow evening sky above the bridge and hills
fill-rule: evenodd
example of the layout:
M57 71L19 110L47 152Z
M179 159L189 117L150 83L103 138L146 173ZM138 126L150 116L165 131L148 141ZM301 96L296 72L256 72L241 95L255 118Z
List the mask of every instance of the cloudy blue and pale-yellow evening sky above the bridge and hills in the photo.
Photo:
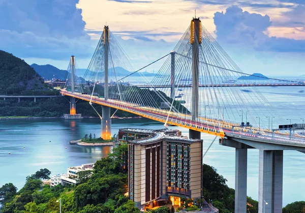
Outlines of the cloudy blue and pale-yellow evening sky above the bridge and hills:
M0 49L60 69L73 54L87 68L107 24L136 70L175 47L195 9L242 71L305 74L304 0L1 0Z

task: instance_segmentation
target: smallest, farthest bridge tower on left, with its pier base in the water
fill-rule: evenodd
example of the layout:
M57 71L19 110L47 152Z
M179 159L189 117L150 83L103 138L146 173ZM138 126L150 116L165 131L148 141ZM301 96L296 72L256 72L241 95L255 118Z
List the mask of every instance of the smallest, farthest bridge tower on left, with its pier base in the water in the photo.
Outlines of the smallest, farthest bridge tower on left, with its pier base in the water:
M75 57L71 56L70 61L70 71L71 71L71 92L74 93L75 90ZM75 97L71 97L70 100L70 114L64 114L65 119L80 119L81 114L76 114L76 101Z

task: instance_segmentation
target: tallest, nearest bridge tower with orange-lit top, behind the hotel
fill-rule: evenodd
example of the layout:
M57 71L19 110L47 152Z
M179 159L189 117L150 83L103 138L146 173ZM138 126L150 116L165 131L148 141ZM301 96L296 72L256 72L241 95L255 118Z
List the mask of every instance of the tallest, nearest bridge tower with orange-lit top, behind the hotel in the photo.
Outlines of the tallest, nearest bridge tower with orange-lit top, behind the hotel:
M199 45L201 44L201 21L193 18L191 21L192 44L192 120L199 115ZM189 130L190 139L200 139L200 131Z

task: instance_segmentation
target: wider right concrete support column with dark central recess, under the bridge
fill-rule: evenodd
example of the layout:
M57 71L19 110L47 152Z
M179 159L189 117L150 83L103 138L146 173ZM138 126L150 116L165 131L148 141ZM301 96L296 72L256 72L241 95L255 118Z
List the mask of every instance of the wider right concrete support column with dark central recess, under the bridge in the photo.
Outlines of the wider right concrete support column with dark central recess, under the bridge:
M259 213L282 213L283 150L259 150L258 203Z

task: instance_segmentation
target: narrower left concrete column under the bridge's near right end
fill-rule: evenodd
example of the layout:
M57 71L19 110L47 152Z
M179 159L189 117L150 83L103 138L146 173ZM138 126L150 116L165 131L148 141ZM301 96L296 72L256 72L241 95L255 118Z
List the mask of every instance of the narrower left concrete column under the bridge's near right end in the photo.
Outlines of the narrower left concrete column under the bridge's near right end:
M247 153L248 149L235 149L235 212L247 212Z

